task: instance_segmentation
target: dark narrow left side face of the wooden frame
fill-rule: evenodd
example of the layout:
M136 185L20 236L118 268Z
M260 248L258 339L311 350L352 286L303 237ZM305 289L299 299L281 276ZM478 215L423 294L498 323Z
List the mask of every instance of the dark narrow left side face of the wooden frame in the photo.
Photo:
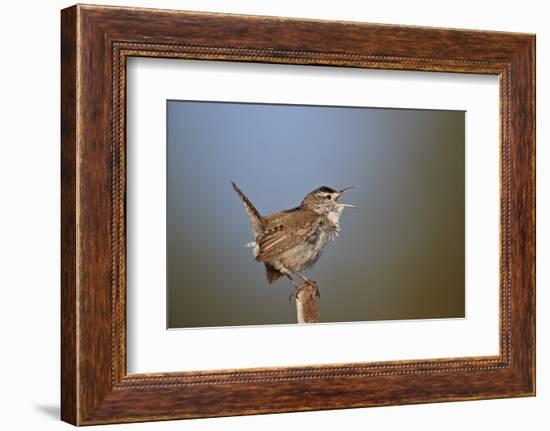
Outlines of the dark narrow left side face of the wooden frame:
M79 423L77 328L78 7L61 11L61 420Z

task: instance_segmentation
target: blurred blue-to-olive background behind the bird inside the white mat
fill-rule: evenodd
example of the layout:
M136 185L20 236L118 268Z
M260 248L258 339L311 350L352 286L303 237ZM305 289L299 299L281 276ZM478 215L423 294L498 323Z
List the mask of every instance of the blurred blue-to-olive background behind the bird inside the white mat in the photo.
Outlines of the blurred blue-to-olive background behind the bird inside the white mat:
M307 274L322 322L464 317L462 111L167 102L168 327L296 322L268 285L234 180L260 213L355 186Z

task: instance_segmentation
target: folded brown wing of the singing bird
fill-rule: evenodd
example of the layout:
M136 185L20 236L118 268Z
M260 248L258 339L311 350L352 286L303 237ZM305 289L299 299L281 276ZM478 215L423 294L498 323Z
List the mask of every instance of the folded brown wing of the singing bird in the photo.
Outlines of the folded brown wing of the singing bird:
M275 217L267 217L267 220L267 228L256 239L256 260L262 262L270 261L306 241L315 233L321 217L313 211L304 211L299 218L279 213Z

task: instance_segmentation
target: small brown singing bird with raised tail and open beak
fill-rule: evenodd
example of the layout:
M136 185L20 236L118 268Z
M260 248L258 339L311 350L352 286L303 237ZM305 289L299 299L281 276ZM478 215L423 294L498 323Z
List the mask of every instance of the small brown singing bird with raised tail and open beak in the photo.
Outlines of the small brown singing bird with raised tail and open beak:
M338 236L344 208L356 208L338 202L353 187L337 191L321 186L309 192L300 205L262 216L235 182L231 181L231 185L244 205L254 235L254 241L246 245L253 248L256 261L264 264L268 283L286 277L296 289L296 298L305 285L312 286L319 297L317 282L302 271L312 267L327 242ZM303 283L296 283L294 276Z

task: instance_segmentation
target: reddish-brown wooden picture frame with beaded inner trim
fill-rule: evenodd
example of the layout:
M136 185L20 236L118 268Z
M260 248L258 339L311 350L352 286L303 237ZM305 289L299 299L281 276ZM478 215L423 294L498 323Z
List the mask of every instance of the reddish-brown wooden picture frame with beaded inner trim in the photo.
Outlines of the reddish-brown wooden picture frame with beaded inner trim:
M75 425L535 394L535 37L77 5L61 14L61 418ZM127 374L130 56L498 75L500 354Z

